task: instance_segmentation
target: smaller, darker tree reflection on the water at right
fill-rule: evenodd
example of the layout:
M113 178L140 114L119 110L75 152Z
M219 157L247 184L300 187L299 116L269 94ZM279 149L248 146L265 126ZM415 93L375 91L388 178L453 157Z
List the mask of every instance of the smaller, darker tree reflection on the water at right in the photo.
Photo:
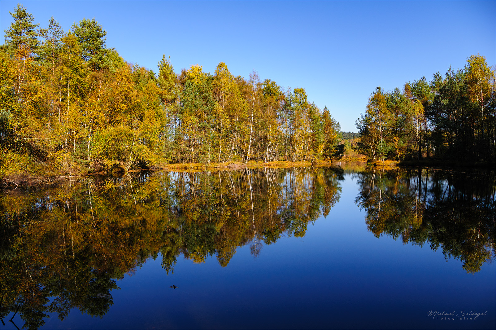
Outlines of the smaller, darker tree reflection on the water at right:
M495 173L434 169L369 169L355 174L356 203L368 229L404 244L429 243L478 272L495 258Z

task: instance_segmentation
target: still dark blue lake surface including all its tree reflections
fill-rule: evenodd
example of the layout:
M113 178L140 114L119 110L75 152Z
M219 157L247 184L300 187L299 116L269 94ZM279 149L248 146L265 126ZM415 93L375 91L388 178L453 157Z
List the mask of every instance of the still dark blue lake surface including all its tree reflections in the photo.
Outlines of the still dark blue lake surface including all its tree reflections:
M494 329L494 260L494 171L92 176L2 192L1 328Z

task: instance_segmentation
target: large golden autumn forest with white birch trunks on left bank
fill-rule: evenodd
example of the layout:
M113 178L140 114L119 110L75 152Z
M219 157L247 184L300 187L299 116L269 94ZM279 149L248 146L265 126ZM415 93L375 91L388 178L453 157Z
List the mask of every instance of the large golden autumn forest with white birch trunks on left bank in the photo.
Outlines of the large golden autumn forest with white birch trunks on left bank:
M214 73L157 72L106 46L104 28L82 19L39 28L22 5L1 45L2 179L27 172L94 173L170 163L312 162L339 157L340 126L304 88Z

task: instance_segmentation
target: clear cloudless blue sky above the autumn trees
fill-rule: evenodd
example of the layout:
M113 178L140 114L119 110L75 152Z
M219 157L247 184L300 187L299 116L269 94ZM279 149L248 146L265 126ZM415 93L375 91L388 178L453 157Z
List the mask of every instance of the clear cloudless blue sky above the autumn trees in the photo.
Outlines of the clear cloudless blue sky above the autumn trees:
M67 31L95 19L129 63L157 71L162 55L177 73L193 64L214 72L225 62L234 75L304 87L344 132L371 93L449 65L471 54L496 64L496 1L0 1L1 43L20 2L44 28L54 16Z

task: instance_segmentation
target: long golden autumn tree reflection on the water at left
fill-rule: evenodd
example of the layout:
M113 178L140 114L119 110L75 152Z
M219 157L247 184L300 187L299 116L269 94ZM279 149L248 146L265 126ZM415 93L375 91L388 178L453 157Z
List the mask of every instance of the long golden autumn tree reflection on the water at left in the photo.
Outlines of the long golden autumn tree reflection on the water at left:
M3 193L1 321L14 312L36 329L73 308L101 318L115 279L159 253L168 274L181 254L226 266L249 244L256 257L262 242L304 236L343 179L340 168L127 173Z

